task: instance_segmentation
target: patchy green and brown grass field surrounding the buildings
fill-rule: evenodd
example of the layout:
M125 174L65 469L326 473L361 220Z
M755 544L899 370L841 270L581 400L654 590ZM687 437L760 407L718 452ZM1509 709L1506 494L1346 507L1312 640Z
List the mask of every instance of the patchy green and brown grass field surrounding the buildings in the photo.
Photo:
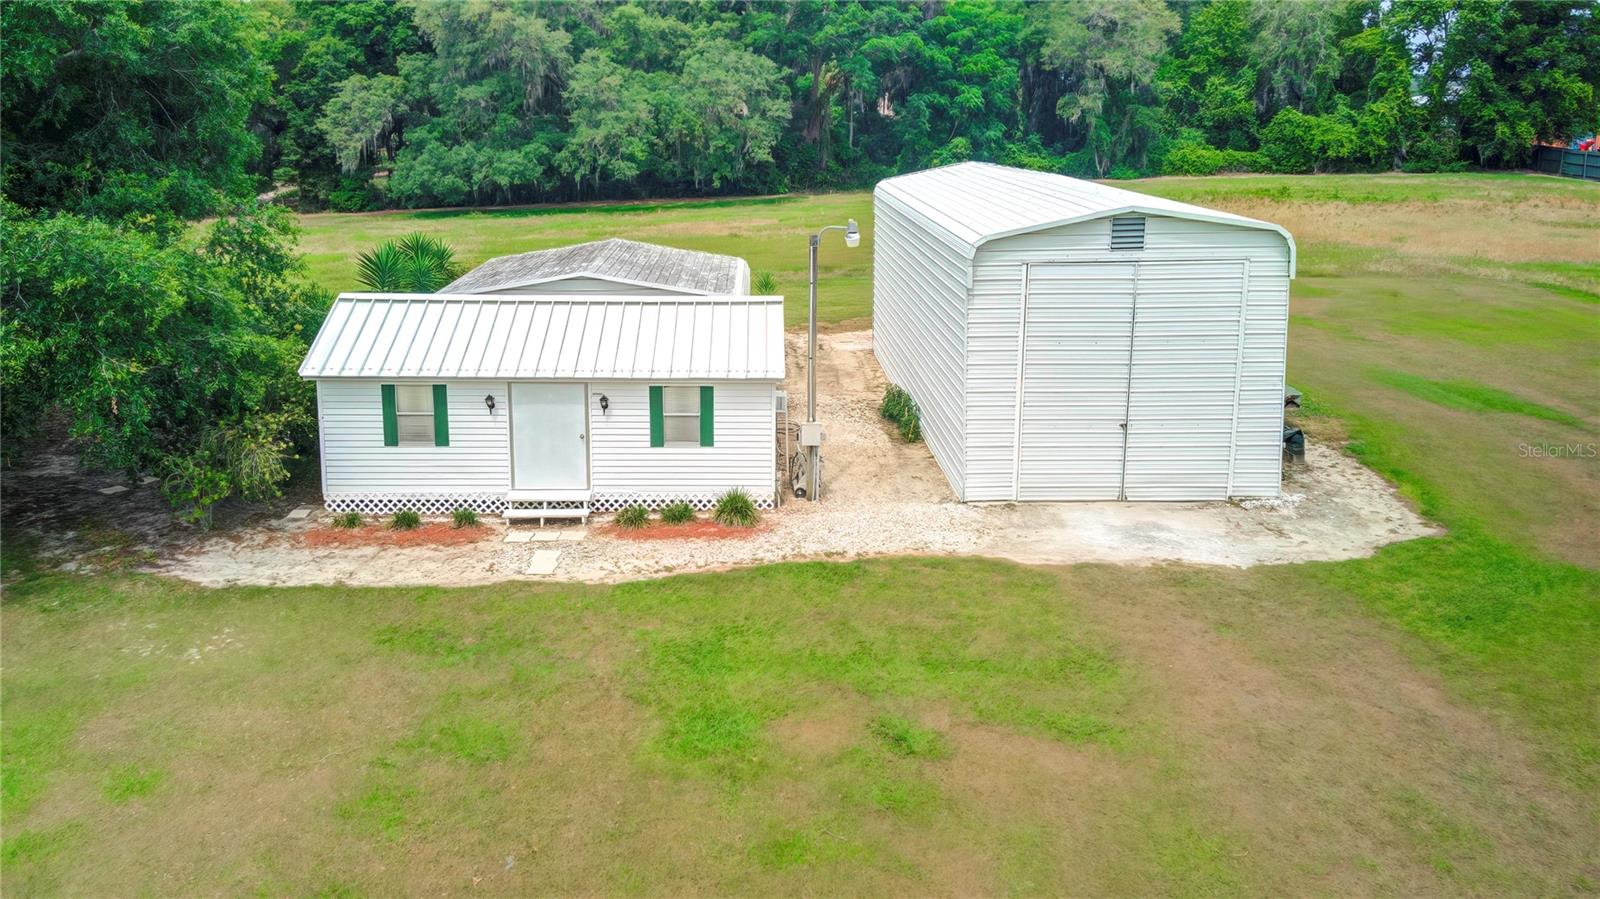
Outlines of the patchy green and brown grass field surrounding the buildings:
M1296 234L1307 430L1446 536L1250 571L877 560L464 590L202 590L13 552L0 886L1595 893L1600 192L1131 187ZM416 227L467 261L618 234L744 254L802 298L805 230L867 214L307 216L306 246L344 288L357 250ZM867 315L869 242L824 259L824 317Z

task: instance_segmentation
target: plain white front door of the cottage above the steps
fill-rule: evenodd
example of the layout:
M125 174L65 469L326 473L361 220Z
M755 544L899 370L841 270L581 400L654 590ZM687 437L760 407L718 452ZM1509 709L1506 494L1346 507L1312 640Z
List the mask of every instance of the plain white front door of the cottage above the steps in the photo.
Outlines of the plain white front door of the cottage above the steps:
M512 488L589 488L586 392L582 384L510 386Z

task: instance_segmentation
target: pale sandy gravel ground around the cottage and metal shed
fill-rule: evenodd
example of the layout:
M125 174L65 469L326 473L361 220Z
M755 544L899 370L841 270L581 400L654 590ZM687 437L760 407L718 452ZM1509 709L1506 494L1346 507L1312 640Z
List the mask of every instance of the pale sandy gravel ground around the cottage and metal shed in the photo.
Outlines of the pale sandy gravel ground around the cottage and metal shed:
M792 421L805 416L803 352L803 334L790 334ZM822 334L818 419L827 435L824 497L789 501L741 539L630 541L590 533L560 544L506 542L506 526L491 523L482 539L456 545L315 545L328 542L306 539L307 531L328 526L328 515L317 512L306 520L258 517L184 541L170 525L155 525L163 515L154 488L106 497L91 489L99 481L72 481L56 470L61 464L53 457L24 472L32 489L22 491L29 496L22 507L51 507L51 478L62 478L61 489L99 507L99 518L122 528L131 523L130 541L142 547L147 569L208 585L482 584L526 577L534 553L552 547L562 553L554 577L571 581L894 553L973 553L1038 565L1251 566L1363 557L1384 544L1435 533L1382 478L1315 440L1309 462L1288 473L1282 501L960 504L926 446L901 442L878 419L883 384L870 331ZM285 512L282 504L274 510ZM139 536L146 531L160 539ZM61 563L82 565L66 547L56 547Z

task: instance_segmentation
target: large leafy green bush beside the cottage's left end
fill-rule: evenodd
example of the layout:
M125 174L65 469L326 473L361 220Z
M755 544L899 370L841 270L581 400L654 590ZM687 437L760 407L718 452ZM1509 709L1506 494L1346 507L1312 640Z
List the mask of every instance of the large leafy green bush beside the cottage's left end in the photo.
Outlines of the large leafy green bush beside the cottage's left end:
M0 205L16 299L0 323L5 456L59 408L85 462L155 472L202 526L229 496L277 496L315 445L315 389L298 368L328 302L301 280L294 232L286 210L253 203L197 245Z

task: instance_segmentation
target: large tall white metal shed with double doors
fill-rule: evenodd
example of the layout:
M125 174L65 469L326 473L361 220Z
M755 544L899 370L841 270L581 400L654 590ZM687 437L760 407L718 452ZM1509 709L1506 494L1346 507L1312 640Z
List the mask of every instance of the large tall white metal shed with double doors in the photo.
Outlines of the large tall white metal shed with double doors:
M987 163L874 216L875 350L957 496L1278 494L1286 230Z

